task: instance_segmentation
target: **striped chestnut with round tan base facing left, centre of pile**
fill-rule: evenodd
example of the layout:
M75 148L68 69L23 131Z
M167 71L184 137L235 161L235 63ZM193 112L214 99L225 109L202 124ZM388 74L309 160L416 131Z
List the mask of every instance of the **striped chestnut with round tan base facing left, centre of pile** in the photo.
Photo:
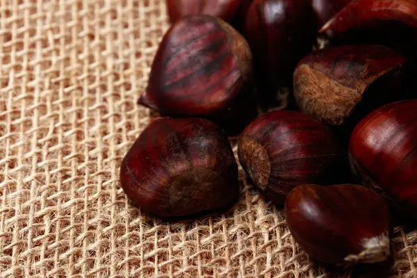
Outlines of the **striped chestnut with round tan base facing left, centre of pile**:
M271 111L238 138L238 157L261 192L275 204L304 183L330 183L341 154L328 126L296 111Z

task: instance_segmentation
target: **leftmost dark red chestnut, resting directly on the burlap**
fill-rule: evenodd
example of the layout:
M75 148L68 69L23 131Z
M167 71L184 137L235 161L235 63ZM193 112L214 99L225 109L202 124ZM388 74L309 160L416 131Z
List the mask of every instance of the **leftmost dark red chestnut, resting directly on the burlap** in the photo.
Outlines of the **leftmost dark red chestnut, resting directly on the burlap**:
M120 167L124 193L162 217L214 211L238 196L229 140L200 118L160 118L140 134Z

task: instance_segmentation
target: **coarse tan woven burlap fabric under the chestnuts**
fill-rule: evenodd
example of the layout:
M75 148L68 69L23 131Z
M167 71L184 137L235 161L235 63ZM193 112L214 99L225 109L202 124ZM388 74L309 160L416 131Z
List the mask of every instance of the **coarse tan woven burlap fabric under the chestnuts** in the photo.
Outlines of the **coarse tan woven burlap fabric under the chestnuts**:
M224 215L161 222L126 199L120 162L167 29L163 0L0 0L1 277L328 277L241 173ZM417 277L396 228L392 277Z

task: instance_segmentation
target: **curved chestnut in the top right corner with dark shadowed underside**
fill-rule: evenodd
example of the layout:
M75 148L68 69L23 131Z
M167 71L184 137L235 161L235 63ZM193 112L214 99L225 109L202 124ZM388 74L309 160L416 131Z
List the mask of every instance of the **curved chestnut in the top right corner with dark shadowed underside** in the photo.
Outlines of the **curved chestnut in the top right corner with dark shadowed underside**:
M417 59L417 1L351 1L320 33L327 35L332 45L384 44Z

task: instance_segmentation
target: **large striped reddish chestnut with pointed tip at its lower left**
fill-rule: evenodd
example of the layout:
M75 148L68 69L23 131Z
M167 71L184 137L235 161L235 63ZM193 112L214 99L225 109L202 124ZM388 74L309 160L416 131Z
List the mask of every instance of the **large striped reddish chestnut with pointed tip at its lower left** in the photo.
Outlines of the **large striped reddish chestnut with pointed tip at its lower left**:
M139 104L170 117L204 117L236 133L257 115L252 54L233 27L209 15L173 24Z

